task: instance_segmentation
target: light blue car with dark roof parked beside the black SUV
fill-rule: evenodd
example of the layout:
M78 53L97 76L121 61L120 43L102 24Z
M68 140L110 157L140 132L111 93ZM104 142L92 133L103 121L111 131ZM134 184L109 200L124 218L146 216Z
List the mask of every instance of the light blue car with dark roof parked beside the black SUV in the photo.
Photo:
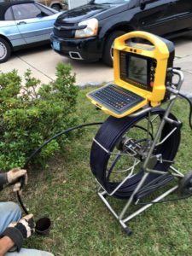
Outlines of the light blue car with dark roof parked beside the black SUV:
M0 63L12 51L47 44L60 14L34 1L0 1Z

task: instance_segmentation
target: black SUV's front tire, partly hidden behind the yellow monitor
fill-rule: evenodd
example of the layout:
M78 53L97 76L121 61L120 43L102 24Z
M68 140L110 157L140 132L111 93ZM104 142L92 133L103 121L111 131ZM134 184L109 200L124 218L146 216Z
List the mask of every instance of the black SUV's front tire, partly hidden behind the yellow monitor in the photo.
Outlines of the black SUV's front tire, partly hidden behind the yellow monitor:
M124 35L125 32L124 31L114 31L112 32L106 41L106 44L104 46L104 50L102 53L102 61L109 67L113 67L113 42L115 38L118 38L119 36Z

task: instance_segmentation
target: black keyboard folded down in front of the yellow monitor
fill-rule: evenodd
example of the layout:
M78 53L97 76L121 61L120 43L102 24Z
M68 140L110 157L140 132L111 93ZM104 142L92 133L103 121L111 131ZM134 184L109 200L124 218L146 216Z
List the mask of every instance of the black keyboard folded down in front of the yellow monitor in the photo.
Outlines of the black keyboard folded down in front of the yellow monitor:
M142 96L138 96L134 92L125 90L115 84L108 84L91 92L89 96L115 113L124 113L144 100Z

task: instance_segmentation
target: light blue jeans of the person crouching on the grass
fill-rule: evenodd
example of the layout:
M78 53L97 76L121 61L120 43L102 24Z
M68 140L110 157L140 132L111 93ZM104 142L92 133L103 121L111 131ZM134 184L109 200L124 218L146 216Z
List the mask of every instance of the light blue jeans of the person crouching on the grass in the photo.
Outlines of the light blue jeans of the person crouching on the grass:
M0 202L0 234L11 222L17 222L21 218L20 207L14 202ZM54 256L44 251L21 249L20 253L6 253L5 256Z

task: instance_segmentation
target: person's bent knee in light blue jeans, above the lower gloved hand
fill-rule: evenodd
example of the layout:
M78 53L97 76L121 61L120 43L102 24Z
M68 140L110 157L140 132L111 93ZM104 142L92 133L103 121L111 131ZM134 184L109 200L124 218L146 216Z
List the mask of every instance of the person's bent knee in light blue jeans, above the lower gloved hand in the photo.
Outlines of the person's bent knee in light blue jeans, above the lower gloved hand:
M14 202L0 202L0 234L7 226L14 221L19 221L21 218L20 207Z

